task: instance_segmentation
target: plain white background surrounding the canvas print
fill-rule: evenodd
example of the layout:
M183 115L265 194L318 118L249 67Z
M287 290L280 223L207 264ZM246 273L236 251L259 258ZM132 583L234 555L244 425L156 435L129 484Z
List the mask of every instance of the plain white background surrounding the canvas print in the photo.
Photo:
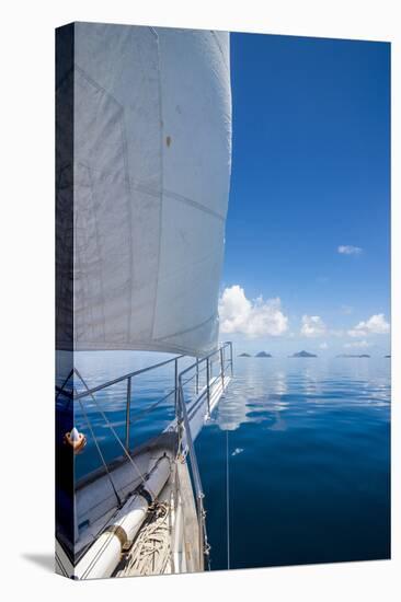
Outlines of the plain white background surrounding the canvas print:
M64 0L3 3L1 56L2 580L13 598L394 600L401 574L400 106L397 2ZM392 43L392 520L391 562L72 583L53 554L54 27L75 20L213 27ZM41 565L42 558L42 565ZM38 564L39 560L39 564Z

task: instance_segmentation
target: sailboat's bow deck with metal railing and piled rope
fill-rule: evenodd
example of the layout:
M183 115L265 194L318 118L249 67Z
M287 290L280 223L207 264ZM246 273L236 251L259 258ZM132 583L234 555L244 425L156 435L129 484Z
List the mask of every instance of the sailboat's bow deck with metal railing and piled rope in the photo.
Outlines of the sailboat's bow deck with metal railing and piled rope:
M159 462L164 462L164 470L170 464L161 483L162 488L158 488L157 497L148 501L146 514L134 539L121 542L119 558L113 557L115 564L111 567L108 576L128 577L203 570L204 551L207 551L208 546L203 520L204 494L194 441L231 381L228 373L228 369L232 372L231 349L229 359L225 359L221 349L219 355L220 371L217 375L211 375L209 356L197 360L179 375L175 374L176 389L172 393L175 393L176 417L163 432L135 449L122 445L124 453L121 456L107 464L104 463L102 467L77 483L73 549L71 546L66 546L66 549L70 553L73 551L75 564L78 563L80 566L78 578L85 575L82 574L82 570L85 570L82 568L85 567L84 558L88 562L88 555L95 554L92 545L95 546L99 539L113 528L113 521L121 520L122 508L138 495L148 501L139 488L145 485L146 493L146 483L148 478L152 478L151 475ZM176 362L176 359L173 361ZM93 390L87 387L87 391L76 394L76 397L91 395L96 403L95 393L124 380L128 380L129 385L135 374L127 374ZM188 386L184 393L185 385ZM62 392L62 389L60 391ZM130 386L127 387L127 416L129 401ZM154 402L153 406L158 403ZM108 425L106 416L104 419ZM129 422L127 425L129 435ZM167 465L165 458L169 459ZM60 544L66 542L60 539ZM61 547L59 558L64 571L75 575L75 568L61 554ZM94 566L91 565L91 570Z

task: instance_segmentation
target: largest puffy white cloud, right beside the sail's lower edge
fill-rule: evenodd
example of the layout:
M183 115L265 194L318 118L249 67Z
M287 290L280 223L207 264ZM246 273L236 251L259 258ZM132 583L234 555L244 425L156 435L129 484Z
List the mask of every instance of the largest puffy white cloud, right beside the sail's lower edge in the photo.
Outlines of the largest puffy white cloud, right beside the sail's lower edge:
M279 336L288 328L288 317L282 311L280 300L249 300L242 287L234 285L224 290L219 300L220 331L249 337Z

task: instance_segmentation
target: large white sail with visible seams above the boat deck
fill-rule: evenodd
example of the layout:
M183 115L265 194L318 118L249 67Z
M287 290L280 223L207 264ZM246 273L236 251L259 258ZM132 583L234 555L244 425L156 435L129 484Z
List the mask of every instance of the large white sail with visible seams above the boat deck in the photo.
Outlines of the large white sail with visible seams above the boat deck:
M57 347L209 352L231 165L229 35L77 23L73 53L73 167L59 161L57 174L58 221L73 190L73 262L59 270L73 327L59 303Z

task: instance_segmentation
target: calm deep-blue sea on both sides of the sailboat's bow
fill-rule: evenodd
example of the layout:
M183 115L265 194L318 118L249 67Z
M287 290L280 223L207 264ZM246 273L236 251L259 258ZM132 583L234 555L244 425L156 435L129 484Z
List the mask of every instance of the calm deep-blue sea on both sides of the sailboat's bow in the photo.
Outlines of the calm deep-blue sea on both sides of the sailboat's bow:
M150 357L82 354L78 364L94 386ZM172 378L169 367L133 381L131 444L172 419L171 398L144 412L169 392ZM121 437L125 394L123 384L98 395ZM121 454L99 407L88 400L83 408L105 459ZM76 420L88 435L79 478L100 460L80 407ZM234 378L195 448L211 569L389 558L389 359L234 358Z

